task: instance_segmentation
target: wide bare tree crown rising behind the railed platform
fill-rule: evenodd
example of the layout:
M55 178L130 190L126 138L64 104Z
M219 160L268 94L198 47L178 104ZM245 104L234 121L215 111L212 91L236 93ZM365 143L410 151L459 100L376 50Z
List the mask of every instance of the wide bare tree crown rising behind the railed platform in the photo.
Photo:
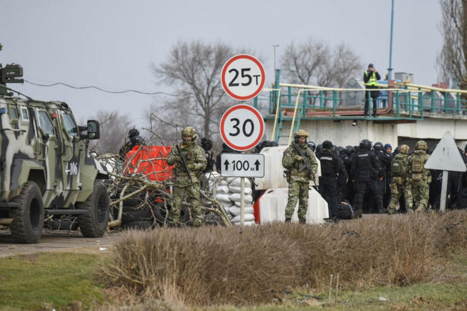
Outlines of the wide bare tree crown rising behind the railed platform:
M323 42L309 38L306 42L287 47L281 69L292 83L342 87L362 71L359 57L344 43L329 48Z

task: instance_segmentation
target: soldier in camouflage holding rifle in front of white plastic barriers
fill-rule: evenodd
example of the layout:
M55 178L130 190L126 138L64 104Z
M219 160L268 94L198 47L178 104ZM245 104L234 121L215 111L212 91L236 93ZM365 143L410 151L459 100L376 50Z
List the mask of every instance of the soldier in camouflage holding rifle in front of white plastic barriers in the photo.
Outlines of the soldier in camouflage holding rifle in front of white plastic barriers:
M298 130L295 135L295 141L284 151L282 166L286 168L288 182L288 201L286 206L286 222L292 219L293 211L297 201L298 219L300 222L306 221L306 210L308 209L308 190L310 179L314 178L318 170L318 162L315 154L306 144L308 133L303 129ZM300 147L302 154L308 161L311 171L305 165L303 157L297 152L296 146Z

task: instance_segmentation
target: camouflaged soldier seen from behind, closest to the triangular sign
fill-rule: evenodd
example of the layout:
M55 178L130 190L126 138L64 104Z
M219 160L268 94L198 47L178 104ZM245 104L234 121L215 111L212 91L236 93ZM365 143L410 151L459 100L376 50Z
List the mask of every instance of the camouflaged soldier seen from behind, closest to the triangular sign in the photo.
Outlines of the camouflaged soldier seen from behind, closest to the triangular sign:
M415 211L425 211L428 207L431 173L425 168L430 156L426 152L427 143L419 140L415 144L415 153L409 158L410 184Z

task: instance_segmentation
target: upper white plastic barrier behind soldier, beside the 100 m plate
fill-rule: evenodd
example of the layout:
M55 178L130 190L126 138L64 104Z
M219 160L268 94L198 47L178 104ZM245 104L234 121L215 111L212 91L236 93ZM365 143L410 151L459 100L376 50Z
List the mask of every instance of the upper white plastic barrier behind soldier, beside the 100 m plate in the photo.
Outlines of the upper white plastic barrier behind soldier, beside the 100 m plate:
M254 179L257 184L256 190L288 187L287 180L284 177L285 168L282 166L282 153L286 149L287 146L277 146L261 150L261 153L264 154L264 177ZM316 161L318 161L318 172L316 174L316 182L318 183L318 177L321 176L321 165L320 160L316 159ZM313 182L310 184L314 185Z

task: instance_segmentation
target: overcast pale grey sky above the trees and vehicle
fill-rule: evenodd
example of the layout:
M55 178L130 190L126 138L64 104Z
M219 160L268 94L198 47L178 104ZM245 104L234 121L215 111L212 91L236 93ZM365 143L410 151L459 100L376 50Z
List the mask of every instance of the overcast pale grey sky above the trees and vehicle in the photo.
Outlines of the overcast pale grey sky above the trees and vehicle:
M0 0L0 10L0 63L21 64L24 78L35 83L169 91L155 84L149 64L164 61L177 40L223 41L257 51L266 57L260 59L266 86L273 81L272 45L279 44L279 63L290 42L308 37L330 46L344 42L382 76L389 65L391 0ZM417 84L437 82L440 21L437 0L395 0L395 72L413 73ZM10 87L65 101L78 121L94 110L119 110L137 127L155 100L64 86Z

